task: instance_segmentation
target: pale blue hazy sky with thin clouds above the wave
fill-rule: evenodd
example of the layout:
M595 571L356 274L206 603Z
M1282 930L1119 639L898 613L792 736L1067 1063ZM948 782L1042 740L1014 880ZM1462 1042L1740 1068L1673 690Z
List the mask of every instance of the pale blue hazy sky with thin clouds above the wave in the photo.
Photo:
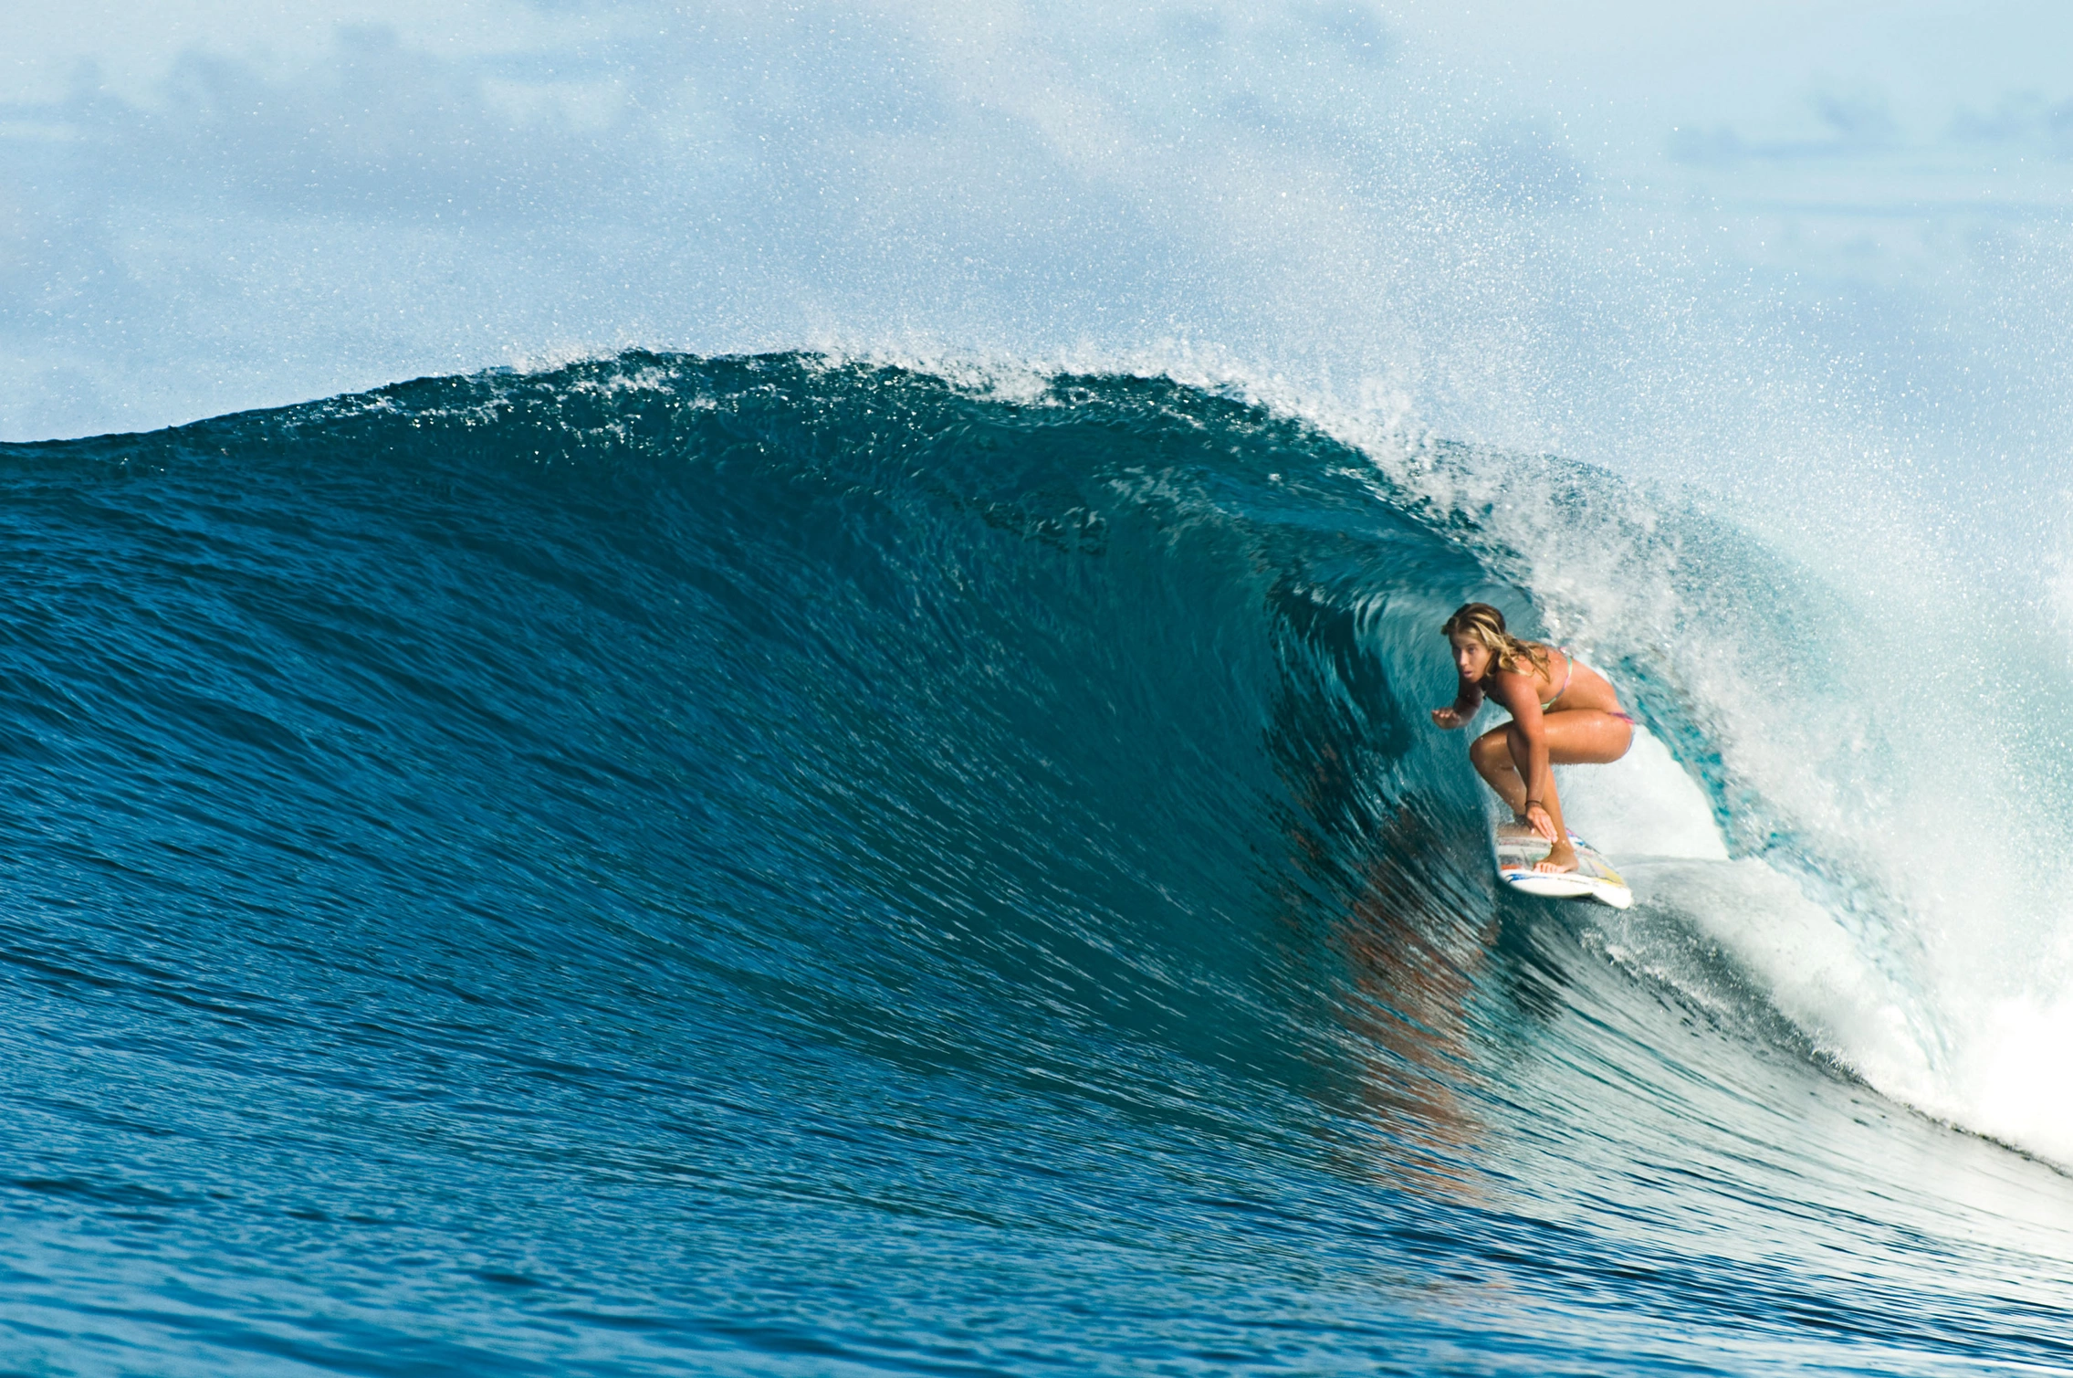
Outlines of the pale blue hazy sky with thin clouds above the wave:
M2073 6L0 23L8 440L624 347L1219 361L1638 471L1816 444L2023 500L2073 438Z

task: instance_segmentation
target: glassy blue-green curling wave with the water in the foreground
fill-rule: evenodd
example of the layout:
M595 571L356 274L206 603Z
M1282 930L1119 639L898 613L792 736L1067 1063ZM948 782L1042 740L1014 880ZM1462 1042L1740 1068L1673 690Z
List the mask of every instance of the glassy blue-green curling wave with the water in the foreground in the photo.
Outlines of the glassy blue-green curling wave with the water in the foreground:
M1704 513L815 357L0 473L8 1368L2073 1363L2065 1179L1725 934L1920 942L1503 494L1818 625ZM1575 809L1658 859L1499 897L1432 629L1613 594L1652 733Z

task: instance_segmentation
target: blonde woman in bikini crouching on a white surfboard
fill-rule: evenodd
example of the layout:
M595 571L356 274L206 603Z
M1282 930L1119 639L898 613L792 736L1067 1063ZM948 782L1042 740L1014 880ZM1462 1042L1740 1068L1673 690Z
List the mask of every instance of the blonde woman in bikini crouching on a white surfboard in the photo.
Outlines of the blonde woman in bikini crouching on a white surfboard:
M1511 710L1511 722L1470 743L1468 760L1513 818L1549 840L1549 855L1534 870L1573 872L1575 847L1561 820L1553 766L1617 762L1634 745L1634 718L1621 712L1602 674L1567 647L1520 641L1490 604L1461 604L1441 631L1453 645L1461 691L1447 708L1432 710L1432 722L1447 731L1466 726L1484 697Z

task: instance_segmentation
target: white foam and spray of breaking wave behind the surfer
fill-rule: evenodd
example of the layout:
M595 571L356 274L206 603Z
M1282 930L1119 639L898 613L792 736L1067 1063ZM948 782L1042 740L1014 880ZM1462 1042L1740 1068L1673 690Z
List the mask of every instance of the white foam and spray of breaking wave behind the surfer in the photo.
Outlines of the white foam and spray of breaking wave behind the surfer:
M1725 814L1700 764L1644 733L1617 766L1565 772L1571 826L1615 859L1671 859L1636 870L1644 901L1719 942L1868 1083L2073 1166L2073 899L2038 863L2073 851L2052 803L2073 770L2073 660L2007 654L2034 629L1980 606L1924 494L1864 459L1826 506L1820 484L1795 490L1789 519L1689 506L1607 473L1449 452L1389 380L1350 401L1202 351L1111 363L1339 436L1385 500L1466 519L1551 637L1646 666L1716 757ZM1862 513L1882 486L1891 500ZM2069 571L2050 567L2044 589L2065 616Z

